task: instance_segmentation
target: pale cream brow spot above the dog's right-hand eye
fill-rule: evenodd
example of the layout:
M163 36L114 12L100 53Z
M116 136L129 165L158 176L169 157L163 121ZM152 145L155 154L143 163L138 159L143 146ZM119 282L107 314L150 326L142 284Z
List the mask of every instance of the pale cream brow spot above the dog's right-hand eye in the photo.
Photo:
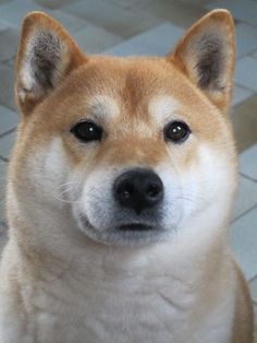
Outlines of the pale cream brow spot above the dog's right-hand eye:
M149 100L148 111L151 118L162 123L180 108L180 103L170 95L158 95Z

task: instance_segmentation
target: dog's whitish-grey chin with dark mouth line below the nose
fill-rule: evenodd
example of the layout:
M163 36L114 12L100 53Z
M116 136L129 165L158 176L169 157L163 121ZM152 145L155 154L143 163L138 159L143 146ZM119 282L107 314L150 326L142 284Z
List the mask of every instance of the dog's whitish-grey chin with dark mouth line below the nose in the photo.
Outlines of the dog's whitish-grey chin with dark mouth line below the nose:
M131 223L99 230L86 217L79 217L78 226L90 239L113 246L144 246L169 239L171 232L160 226Z

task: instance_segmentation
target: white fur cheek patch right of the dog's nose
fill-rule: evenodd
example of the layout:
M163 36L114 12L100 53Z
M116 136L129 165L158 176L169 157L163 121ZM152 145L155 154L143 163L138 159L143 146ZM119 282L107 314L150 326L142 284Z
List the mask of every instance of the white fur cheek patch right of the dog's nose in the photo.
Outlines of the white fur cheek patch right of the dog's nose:
M224 152L207 144L198 146L192 165L181 174L185 215L195 215L212 205L222 206L225 212L235 188L233 174L234 165Z

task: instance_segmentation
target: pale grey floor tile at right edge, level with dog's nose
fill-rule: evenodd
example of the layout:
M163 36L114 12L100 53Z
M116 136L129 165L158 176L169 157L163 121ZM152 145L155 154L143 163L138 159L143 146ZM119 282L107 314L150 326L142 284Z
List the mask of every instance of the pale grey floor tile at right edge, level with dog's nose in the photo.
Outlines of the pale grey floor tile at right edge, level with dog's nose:
M249 209L257 205L257 182L253 182L245 177L238 178L238 190L235 197L232 220L235 220Z

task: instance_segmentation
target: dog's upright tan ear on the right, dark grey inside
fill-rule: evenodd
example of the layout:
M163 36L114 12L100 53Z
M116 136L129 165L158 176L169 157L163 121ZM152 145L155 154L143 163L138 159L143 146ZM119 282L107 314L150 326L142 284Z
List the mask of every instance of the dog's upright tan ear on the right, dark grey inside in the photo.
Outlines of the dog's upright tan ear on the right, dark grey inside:
M168 58L225 111L231 98L234 55L233 19L225 10L215 10L186 32Z

